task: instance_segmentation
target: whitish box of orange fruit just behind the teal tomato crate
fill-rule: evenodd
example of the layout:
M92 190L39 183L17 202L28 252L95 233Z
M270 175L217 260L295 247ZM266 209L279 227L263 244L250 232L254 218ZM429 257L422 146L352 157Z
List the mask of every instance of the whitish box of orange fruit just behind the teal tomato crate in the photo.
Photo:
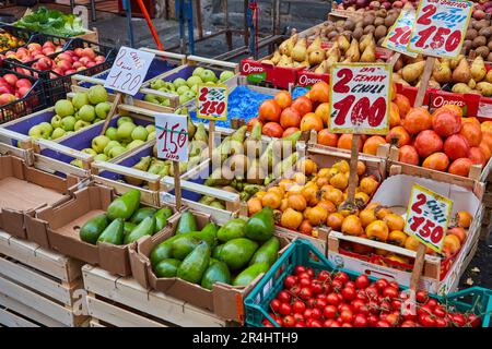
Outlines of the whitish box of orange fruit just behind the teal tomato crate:
M455 184L443 183L409 174L396 174L387 178L376 191L373 201L390 207L394 212L403 213L406 212L410 192L414 183L449 197L454 203L452 217L458 210L468 210L473 216L473 221L468 229L465 243L457 255L454 256L453 260L448 261L450 265L445 263L443 264L441 258L437 256L427 255L425 257L423 277L421 277L420 280L420 287L433 293L441 293L443 291L447 293L455 289L460 276L461 264L477 240L483 207L477 195L471 191L471 188L467 189ZM330 232L329 236L328 258L335 265L339 265L354 272L370 274L376 277L395 279L403 286L410 285L411 273L409 272L394 268L390 265L375 264L372 263L370 258L364 260L363 256L340 253L339 244L340 241L343 240L384 249L413 258L415 256L415 252L394 246L388 243L343 236L339 232Z

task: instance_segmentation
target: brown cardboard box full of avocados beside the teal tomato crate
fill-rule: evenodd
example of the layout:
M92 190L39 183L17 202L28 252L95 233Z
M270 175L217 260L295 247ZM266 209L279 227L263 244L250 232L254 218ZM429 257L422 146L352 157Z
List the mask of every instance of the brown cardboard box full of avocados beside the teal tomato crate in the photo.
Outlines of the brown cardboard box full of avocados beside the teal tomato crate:
M209 221L209 215L192 212L197 218L198 228L202 229ZM145 288L162 291L168 296L181 299L192 305L204 308L218 316L234 322L244 322L243 300L253 290L262 275L258 276L248 287L233 287L225 284L214 284L212 290L202 288L199 285L181 280L177 277L157 278L152 270L149 260L154 246L175 234L180 215L175 215L169 219L167 230L156 237L156 239L138 241L130 248L130 261L133 278ZM281 251L289 245L290 241L280 238Z

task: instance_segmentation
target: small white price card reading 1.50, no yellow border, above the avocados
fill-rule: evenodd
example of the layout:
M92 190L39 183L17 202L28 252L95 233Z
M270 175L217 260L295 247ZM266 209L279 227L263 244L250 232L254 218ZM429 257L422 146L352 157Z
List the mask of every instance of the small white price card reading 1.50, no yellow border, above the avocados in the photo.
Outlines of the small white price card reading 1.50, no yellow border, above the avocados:
M175 113L156 113L157 157L188 161L188 119Z

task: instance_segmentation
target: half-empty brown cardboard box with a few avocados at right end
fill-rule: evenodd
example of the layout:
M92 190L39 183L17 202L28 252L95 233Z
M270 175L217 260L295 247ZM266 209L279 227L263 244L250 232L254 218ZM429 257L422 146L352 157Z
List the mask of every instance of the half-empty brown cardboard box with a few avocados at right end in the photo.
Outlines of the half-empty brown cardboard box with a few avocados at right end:
M107 186L91 185L74 192L73 197L58 205L36 210L33 220L40 233L47 233L49 246L68 256L90 264L96 264L109 273L131 275L127 245L98 243L96 245L80 240L79 230L89 219L107 210L116 198ZM159 233L157 233L159 234ZM152 240L143 237L142 240Z

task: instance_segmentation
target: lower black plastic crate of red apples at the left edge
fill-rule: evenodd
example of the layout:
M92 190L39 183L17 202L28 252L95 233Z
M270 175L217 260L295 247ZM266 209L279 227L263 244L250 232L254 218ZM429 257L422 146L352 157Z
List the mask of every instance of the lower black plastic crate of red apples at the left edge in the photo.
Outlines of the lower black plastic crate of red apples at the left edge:
M33 76L27 76L17 72L12 72L7 69L0 69L0 76L5 74L14 74L19 79L27 79L33 83L33 86L27 94L14 101L0 106L0 124L25 117L35 111L47 108L48 98L43 89L43 84Z

